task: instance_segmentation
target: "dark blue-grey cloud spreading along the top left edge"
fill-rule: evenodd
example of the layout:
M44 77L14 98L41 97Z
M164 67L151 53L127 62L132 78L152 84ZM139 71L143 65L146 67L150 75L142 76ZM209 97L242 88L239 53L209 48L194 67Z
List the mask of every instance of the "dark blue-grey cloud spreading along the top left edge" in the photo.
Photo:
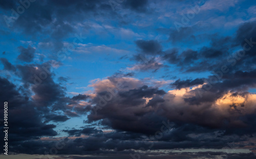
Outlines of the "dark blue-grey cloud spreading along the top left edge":
M2 7L16 9L19 5L15 1L5 1ZM99 15L115 17L112 16L114 14L116 13L108 1L35 1L13 22L13 28L19 28L33 38L48 39L57 43L74 32L73 24L76 22ZM49 35L53 39L43 35Z

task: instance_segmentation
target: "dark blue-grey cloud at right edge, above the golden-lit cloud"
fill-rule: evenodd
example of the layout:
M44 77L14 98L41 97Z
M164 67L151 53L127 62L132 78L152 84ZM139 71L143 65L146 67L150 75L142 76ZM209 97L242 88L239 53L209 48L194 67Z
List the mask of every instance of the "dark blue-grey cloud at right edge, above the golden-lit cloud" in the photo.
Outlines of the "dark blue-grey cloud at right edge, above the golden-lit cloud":
M255 23L252 21L241 24L234 36L207 35L205 38L210 40L209 46L203 46L199 50L188 49L179 52L175 48L167 49L163 51L162 60L175 64L184 72L216 71L223 65L227 65L230 72L251 70L253 69L251 64L256 60L254 56ZM173 42L180 42L183 37L193 35L196 26L193 28L182 28L182 34L175 34L174 31L170 39ZM200 38L200 36L195 38ZM236 49L242 50L234 52Z

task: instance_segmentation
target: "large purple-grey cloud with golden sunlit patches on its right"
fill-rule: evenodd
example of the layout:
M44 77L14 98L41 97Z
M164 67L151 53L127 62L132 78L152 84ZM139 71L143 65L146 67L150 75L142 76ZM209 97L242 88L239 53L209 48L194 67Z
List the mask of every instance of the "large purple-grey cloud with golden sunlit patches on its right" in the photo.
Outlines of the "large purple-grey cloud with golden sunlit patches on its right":
M114 80L119 81L118 78ZM253 103L256 98L254 94L233 92L229 91L232 87L216 86L212 90L204 91L200 97L198 91L206 85L203 79L178 80L174 86L179 89L170 90L167 93L147 86L127 89L131 88L127 83L124 87L126 89L118 88L115 87L116 83L111 83L111 81L108 81L109 88L106 88L106 85L99 85L105 82L105 80L98 81L98 84L94 85L102 89L97 88L97 96L94 97L92 104L94 106L91 107L91 114L88 116L89 123L101 121L102 125L116 130L154 134L157 129L160 129L161 121L170 120L175 123L174 130L162 140L190 141L192 139L187 137L188 134L204 134L216 130L222 132L222 138L218 139L220 143L217 145L219 146L223 144L225 136L256 133L256 129L251 127L254 120L248 122L248 119L256 112ZM195 87L189 88L191 86ZM95 114L95 108L99 106L100 109L97 109L97 114ZM195 127L200 127L200 129L197 131ZM186 133L182 134L183 128L191 130L186 130L184 131ZM245 133L244 129L247 129L248 133ZM210 140L212 136L208 138ZM196 141L193 140L193 142Z

